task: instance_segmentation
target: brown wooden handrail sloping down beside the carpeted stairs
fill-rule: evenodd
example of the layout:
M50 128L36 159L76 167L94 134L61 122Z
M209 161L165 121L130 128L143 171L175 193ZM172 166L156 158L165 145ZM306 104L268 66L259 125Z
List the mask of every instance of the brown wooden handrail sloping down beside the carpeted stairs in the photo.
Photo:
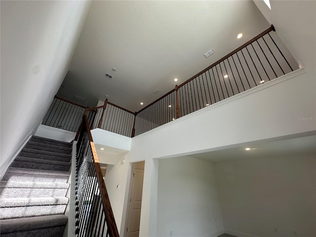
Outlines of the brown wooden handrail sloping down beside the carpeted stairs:
M101 200L102 200L102 206L103 206L103 211L105 214L105 218L107 221L107 226L108 226L108 230L109 230L109 234L111 237L119 237L118 234L118 227L116 225L115 222L115 218L114 218L114 214L112 211L112 207L111 207L111 203L110 203L110 199L109 199L109 195L108 195L108 191L105 187L105 183L103 180L103 174L101 171L101 167L100 167L100 163L99 163L99 158L94 146L94 142L92 139L92 135L91 135L91 131L89 128L89 122L88 122L88 118L86 117L86 115L83 116L84 119L84 125L86 128L86 132L88 135L88 139L89 139L89 143L91 146L91 150L92 150L92 157L93 157L93 164L94 164L94 168L96 171L96 176L97 176L97 180L98 180L98 184L100 187L100 195L101 195Z

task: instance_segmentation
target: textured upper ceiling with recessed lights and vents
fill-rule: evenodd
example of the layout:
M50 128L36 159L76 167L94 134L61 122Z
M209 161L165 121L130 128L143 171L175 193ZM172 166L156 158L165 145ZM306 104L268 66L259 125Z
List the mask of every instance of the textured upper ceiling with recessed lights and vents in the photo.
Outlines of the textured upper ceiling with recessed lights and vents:
M269 26L252 0L93 1L58 95L139 111Z

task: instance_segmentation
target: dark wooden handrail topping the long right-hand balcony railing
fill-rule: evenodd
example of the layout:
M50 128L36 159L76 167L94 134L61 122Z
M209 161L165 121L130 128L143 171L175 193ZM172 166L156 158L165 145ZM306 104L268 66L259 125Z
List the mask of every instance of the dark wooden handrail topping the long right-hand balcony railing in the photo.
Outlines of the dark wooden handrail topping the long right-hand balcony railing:
M267 30L265 30L264 32L260 33L258 36L252 38L251 40L245 42L244 44L242 44L240 47L238 47L237 49L235 49L233 52L227 54L226 56L222 57L221 59L217 60L215 63L213 63L212 65L210 65L209 67L205 68L203 71L197 73L195 76L193 76L190 79L187 79L185 82L181 83L180 85L178 85L177 88L180 88L181 86L187 84L188 82L190 82L191 80L197 78L199 75L205 73L207 70L211 69L212 67L214 67L215 65L219 64L220 62L224 61L225 59L229 58L230 56L232 56L233 54L237 53L239 50L243 49L244 47L248 46L249 44L253 43L254 41L260 39L261 37L263 37L264 35L268 34L271 31L276 31L275 27L273 25L271 25ZM147 109L148 107L152 106L153 104L155 104L156 102L158 102L159 100L161 100L162 98L166 97L167 95L171 94L172 92L174 92L176 89L172 89L170 90L168 93L160 96L157 100L155 100L154 102L150 103L149 105L147 105L146 107L144 107L143 109L141 109L140 111L136 112L136 114L142 112L143 110Z

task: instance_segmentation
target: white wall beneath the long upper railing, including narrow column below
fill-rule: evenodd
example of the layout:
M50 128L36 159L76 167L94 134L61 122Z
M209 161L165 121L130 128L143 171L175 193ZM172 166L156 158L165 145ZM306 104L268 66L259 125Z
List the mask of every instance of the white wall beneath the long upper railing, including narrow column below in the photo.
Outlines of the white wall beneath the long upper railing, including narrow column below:
M155 158L315 133L315 119L299 119L316 118L315 86L301 69L134 137L130 161L145 159L140 236L158 230Z

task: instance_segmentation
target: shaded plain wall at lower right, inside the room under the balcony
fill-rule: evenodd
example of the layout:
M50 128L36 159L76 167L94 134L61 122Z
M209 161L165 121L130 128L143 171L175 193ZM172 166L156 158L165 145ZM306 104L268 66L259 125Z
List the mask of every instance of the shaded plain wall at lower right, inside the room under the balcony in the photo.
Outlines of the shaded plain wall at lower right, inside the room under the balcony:
M226 233L316 236L315 154L247 158L214 167Z

